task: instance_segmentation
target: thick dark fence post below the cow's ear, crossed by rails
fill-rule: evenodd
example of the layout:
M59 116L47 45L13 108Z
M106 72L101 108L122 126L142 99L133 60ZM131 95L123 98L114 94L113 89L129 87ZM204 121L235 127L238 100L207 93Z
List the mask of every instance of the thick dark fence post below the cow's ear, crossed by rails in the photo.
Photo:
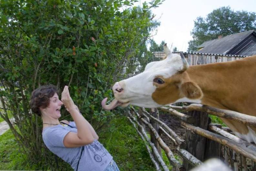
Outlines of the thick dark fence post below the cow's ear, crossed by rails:
M195 127L200 127L203 129L208 128L207 113L200 111L191 111L188 112L188 115L195 118ZM198 134L195 134L190 130L186 130L186 150L201 161L204 161L205 143L206 138ZM183 165L185 170L190 170L191 168L193 168L193 166L189 165L189 163L186 162L185 160L183 160Z

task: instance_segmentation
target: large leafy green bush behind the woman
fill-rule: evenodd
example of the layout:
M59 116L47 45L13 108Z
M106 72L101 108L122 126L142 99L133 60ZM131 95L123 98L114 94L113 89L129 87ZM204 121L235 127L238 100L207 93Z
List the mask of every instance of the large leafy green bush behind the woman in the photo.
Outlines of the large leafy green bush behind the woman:
M112 98L109 88L125 61L138 55L157 26L150 9L161 2L143 7L132 6L134 2L0 0L0 116L27 160L41 164L38 168L49 170L48 161L54 159L43 144L41 120L29 109L31 92L43 84L60 90L69 85L96 130L106 124L114 114L102 110L99 101ZM63 118L70 119L65 112Z

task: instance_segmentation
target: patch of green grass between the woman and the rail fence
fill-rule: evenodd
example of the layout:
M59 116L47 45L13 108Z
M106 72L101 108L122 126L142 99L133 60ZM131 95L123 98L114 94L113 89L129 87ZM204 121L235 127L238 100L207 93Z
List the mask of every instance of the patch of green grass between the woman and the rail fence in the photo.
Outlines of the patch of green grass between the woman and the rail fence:
M101 132L99 137L120 171L155 170L143 141L126 117L113 119L108 129Z

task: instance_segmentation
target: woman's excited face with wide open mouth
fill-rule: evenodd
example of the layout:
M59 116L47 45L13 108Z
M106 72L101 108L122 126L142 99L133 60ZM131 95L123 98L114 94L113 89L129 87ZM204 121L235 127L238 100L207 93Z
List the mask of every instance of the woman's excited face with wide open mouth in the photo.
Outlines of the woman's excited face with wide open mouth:
M62 105L62 101L59 100L59 96L55 93L54 96L50 98L49 106L44 109L45 113L54 119L58 119L61 116L60 108Z

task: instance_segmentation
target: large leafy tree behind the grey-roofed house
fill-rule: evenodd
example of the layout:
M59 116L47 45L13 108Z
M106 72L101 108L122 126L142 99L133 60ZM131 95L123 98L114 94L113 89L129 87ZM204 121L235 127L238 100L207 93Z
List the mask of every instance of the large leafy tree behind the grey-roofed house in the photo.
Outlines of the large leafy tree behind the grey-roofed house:
M188 52L197 51L197 46L205 41L218 38L219 35L256 30L254 12L233 11L229 6L213 10L206 18L198 17L191 32Z

